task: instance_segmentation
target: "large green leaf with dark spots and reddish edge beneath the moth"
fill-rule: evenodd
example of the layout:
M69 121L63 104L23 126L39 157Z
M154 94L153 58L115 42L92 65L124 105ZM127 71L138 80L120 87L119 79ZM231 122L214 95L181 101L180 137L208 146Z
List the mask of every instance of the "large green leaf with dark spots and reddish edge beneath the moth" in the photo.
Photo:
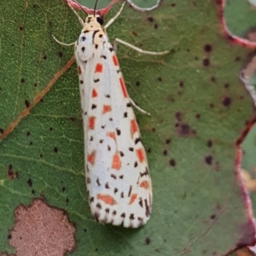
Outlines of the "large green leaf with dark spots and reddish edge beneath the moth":
M2 1L3 2L3 1ZM114 5L105 20L116 14ZM122 45L119 64L137 113L153 180L153 213L143 228L96 224L84 183L83 125L76 65L58 79L14 131L73 49L81 27L62 1L4 1L0 9L0 251L15 208L44 197L76 227L72 255L221 255L253 240L235 174L235 141L253 114L238 73L246 49L220 32L214 1L163 1L140 13L125 7L114 38L170 55L139 55ZM15 173L13 179L10 174ZM64 234L63 234L64 236Z

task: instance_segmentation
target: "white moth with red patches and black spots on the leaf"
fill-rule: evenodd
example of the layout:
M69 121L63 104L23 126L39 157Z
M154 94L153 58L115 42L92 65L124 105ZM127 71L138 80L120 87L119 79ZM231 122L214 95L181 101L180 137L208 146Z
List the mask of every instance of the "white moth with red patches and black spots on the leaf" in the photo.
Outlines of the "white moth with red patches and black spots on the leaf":
M137 228L146 224L152 207L152 183L148 160L120 72L119 62L108 41L106 29L121 9L102 27L100 15L88 15L74 45L79 72L79 89L84 120L85 176L90 211L97 222ZM125 44L143 54L149 52ZM115 47L114 47L115 48Z

